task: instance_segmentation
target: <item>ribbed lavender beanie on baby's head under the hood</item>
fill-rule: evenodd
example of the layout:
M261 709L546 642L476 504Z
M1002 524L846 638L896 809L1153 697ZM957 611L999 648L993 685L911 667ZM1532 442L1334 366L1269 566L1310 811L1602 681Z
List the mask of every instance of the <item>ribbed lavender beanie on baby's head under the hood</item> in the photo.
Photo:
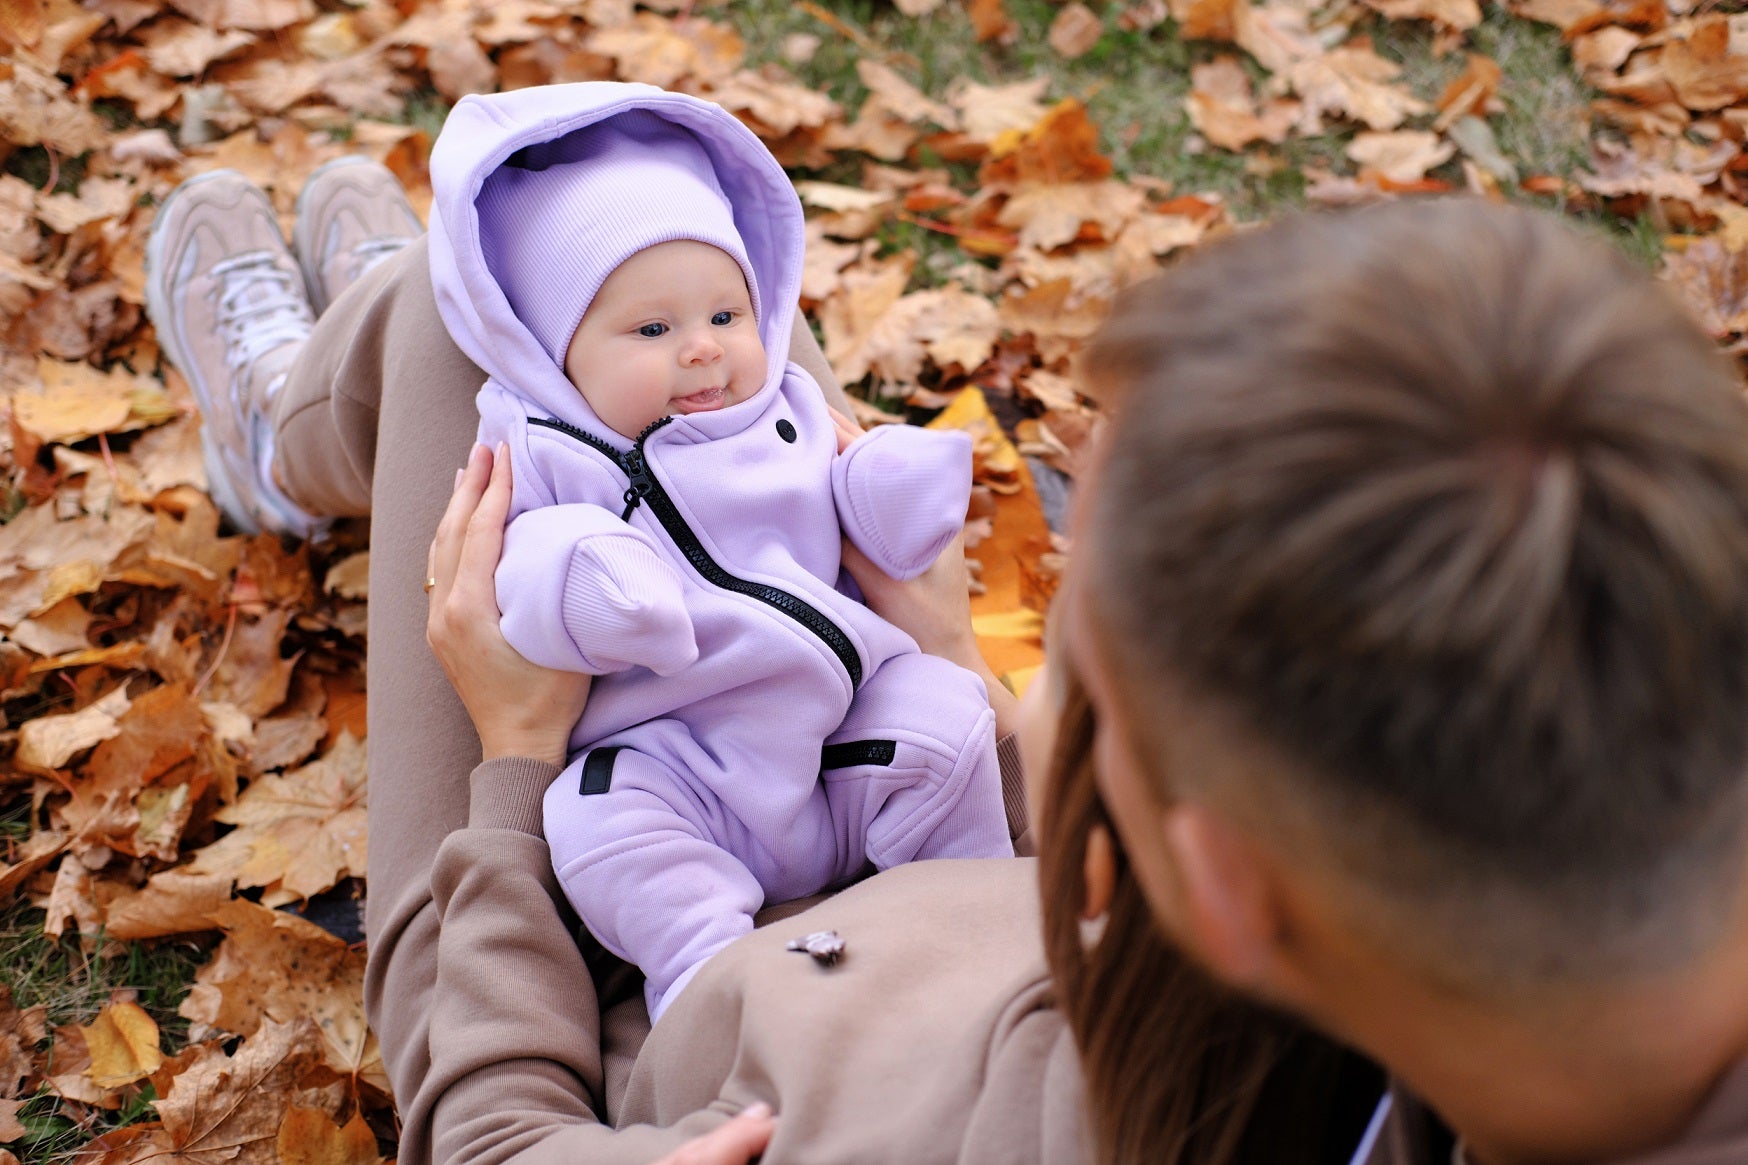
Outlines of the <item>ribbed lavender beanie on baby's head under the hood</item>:
M517 152L486 178L475 206L486 266L561 367L607 276L657 243L725 250L760 317L759 283L710 156L689 129L647 110Z

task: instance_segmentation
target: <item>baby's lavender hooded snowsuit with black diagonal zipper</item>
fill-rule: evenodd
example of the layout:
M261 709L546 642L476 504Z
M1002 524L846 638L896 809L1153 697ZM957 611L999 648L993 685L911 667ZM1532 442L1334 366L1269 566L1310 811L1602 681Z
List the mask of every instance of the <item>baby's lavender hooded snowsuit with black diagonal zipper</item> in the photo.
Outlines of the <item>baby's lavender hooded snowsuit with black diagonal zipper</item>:
M649 110L704 145L757 275L764 387L638 441L607 429L514 317L475 206L517 150ZM514 500L503 633L545 666L601 675L545 798L552 864L659 1015L766 901L867 862L1012 854L982 682L918 651L841 589L841 532L912 577L965 520L970 443L883 427L837 453L818 387L785 360L802 213L725 110L649 86L463 98L432 154L432 278L491 380L481 441ZM587 255L552 257L552 278Z

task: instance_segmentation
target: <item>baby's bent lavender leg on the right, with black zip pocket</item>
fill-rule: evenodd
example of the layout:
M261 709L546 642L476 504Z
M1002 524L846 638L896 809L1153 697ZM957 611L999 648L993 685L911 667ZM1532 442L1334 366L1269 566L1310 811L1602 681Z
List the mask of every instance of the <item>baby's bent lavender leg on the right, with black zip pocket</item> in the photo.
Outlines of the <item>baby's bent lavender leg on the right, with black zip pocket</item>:
M850 854L886 869L930 857L1012 857L995 714L946 659L893 656L825 742L825 796Z

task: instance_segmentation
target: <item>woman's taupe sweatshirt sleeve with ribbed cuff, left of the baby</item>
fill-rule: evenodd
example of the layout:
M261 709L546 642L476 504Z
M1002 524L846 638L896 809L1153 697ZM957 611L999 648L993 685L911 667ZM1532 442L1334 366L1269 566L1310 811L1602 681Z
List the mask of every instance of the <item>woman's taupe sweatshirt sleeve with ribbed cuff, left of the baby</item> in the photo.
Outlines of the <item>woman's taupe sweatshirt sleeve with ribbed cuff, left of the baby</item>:
M598 1001L538 836L540 796L558 771L524 759L475 768L468 824L432 866L427 1086L442 1165L645 1165L729 1116L706 1109L669 1128L617 1132L600 1123Z

